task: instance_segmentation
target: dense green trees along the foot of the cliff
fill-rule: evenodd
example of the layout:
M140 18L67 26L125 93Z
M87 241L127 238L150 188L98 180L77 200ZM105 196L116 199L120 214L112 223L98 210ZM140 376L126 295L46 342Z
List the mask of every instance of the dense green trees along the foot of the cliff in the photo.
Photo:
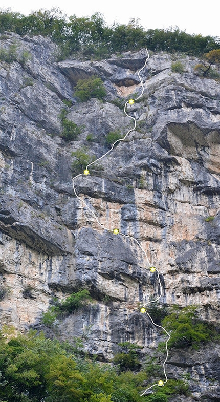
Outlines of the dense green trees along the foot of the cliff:
M118 372L81 355L81 344L60 343L30 331L0 333L0 400L3 402L141 402L146 372ZM78 342L78 344L77 344ZM129 344L129 343L127 343ZM79 345L79 347L78 347ZM127 345L129 348L129 345ZM148 401L164 401L185 393L183 381L170 380Z

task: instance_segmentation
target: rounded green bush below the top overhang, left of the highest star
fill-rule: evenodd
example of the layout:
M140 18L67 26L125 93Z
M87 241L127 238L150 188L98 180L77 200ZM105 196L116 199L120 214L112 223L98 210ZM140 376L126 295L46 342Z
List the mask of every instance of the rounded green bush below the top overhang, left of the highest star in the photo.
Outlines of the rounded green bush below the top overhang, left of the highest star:
M103 99L106 90L100 78L92 76L88 79L79 79L75 87L75 96L81 102L86 102L91 98Z

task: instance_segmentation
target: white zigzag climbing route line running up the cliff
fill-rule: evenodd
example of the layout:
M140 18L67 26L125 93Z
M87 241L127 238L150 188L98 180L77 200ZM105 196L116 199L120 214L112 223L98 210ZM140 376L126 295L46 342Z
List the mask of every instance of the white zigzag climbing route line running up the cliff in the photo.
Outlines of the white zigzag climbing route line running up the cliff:
M80 200L80 201L85 205L85 207L87 208L87 210L90 211L90 213L94 216L94 218L95 218L96 222L99 224L99 226L101 226L104 230L108 230L108 231L113 232L114 235L121 235L121 236L123 236L123 237L125 237L125 238L129 238L129 239L135 241L135 242L138 244L138 246L141 248L141 250L143 251L144 256L145 256L145 258L146 258L146 260L147 260L147 263L148 263L148 268L150 269L150 271L151 271L151 272L157 271L157 274L158 274L158 282L159 282L159 286L160 286L160 294L159 294L159 296L158 296L157 299L154 299L154 300L151 300L151 301L145 303L145 304L144 304L145 307L146 307L148 304L157 302L157 301L161 298L161 296L162 296L163 289L162 289L162 284L161 284L161 280L160 280L160 272L159 272L159 270L158 270L157 268L155 268L155 267L152 267L152 265L150 264L149 259L148 259L148 257L147 257L146 251L143 249L142 245L140 244L140 242L139 242L137 239L135 239L133 236L129 236L129 235L125 235L124 233L121 233L121 232L119 231L119 229L117 229L117 228L115 228L115 229L109 229L108 227L105 227L104 225L102 225L102 223L99 222L99 220L98 220L96 214L94 213L94 211L86 204L86 202L85 202L82 198L80 198L80 197L77 195L76 189L75 189L75 185L74 185L74 180L76 180L76 179L77 179L78 177L80 177L80 176L89 176L89 175L90 175L90 171L89 171L88 168L89 168L90 166L92 166L94 163L96 163L96 162L98 162L99 160L101 160L102 158L104 158L105 156L107 156L109 153L111 153L111 152L113 151L114 147L115 147L115 144L117 144L117 142L124 141L124 140L126 139L126 137L128 136L128 134L129 134L131 131L134 131L134 130L135 130L135 128L136 128L136 118L127 114L127 112L126 112L126 107L127 107L127 103L129 103L129 104L132 105L132 104L135 103L135 102L134 102L135 100L140 99L140 97L143 95L143 92L144 92L144 85L143 85L143 81L142 81L142 79L141 79L141 77L140 77L140 72L146 67L147 60L149 59L148 50L146 49L146 51L147 51L147 57L146 57L144 66L138 71L138 76L139 76L139 79L140 79L140 82L141 82L141 86L142 86L141 94L140 94L137 98L129 99L129 101L126 101L126 102L125 102L125 105L124 105L124 113L126 114L127 117L129 117L130 119L133 119L133 120L134 120L134 127L133 127L132 129L128 130L128 132L125 134L125 136L124 136L123 138L120 138L120 139L116 140L116 141L112 144L112 147L111 147L111 149L110 149L109 151L107 151L107 152L106 152L104 155L102 155L100 158L97 158L97 159L94 160L93 162L89 163L89 164L86 166L86 168L85 168L85 170L83 171L83 173L80 173L80 174L76 175L76 176L73 177L73 179L72 179L73 191L74 191L74 194L75 194L76 198L78 198L78 200ZM144 313L146 312L145 307L142 307L141 310L143 310L143 311L141 311L141 312L144 312ZM148 312L146 312L146 314L148 315L148 317L149 317L149 319L151 320L151 322L152 322L153 325L155 325L155 326L158 327L158 328L163 329L163 330L166 332L166 334L168 335L168 339L167 339L167 341L166 341L166 343L165 343L165 346L166 346L166 358L165 358L164 363L163 363L163 371L164 371L164 376L165 376L166 380L165 380L165 381L159 380L157 384L153 384L153 385L151 385L150 387L148 387L140 396L145 395L146 392L147 392L149 389L153 388L153 387L156 387L156 386L161 387L161 386L163 386L163 385L168 381L168 378L167 378L167 375L166 375L166 370L165 370L165 364L166 364L167 359L168 359L167 342L170 340L170 334L166 331L166 329L165 329L164 327L162 327L161 325L156 324L156 323L152 320L152 318L151 318L151 316L150 316L150 314L149 314Z

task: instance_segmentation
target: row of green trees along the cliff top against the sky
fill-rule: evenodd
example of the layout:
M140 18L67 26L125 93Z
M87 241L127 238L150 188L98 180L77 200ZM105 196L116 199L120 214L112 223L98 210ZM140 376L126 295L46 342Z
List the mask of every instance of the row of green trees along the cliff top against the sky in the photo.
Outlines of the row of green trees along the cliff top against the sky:
M39 10L28 16L10 9L0 10L0 33L15 32L21 36L43 35L62 45L61 58L82 52L84 56L107 57L114 52L139 50L185 52L203 55L218 49L220 38L188 34L178 27L145 30L135 18L127 25L107 26L102 14L91 17L67 17L58 8Z

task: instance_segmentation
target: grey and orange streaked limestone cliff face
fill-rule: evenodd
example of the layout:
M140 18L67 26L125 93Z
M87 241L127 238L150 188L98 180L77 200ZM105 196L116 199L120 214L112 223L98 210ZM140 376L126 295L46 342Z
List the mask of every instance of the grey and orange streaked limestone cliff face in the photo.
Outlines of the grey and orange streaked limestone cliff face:
M74 197L71 171L73 151L86 146L100 157L108 150L108 132L125 134L132 127L111 102L140 93L137 71L145 50L103 61L56 62L56 46L47 38L8 34L1 40L6 48L12 43L31 58L25 66L18 61L0 65L1 323L22 331L30 325L42 328L41 313L54 296L62 299L86 288L93 303L57 322L55 335L70 341L84 337L85 348L100 360L111 358L122 341L136 342L149 353L160 335L137 306L158 294L157 276L146 269L133 240L100 229ZM102 170L78 179L76 189L105 227L119 227L141 242L161 272L161 303L199 304L204 319L216 323L219 81L196 76L198 60L181 61L185 72L172 73L170 55L150 55L141 73L143 97L128 107L137 130L102 160ZM91 75L104 81L106 102L79 103L74 97L77 80ZM63 108L82 126L70 143L59 137ZM93 141L86 140L88 134ZM219 348L203 352L171 355L169 375L188 371L194 400L201 395L220 400Z

